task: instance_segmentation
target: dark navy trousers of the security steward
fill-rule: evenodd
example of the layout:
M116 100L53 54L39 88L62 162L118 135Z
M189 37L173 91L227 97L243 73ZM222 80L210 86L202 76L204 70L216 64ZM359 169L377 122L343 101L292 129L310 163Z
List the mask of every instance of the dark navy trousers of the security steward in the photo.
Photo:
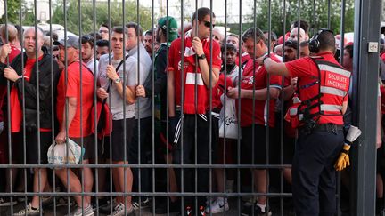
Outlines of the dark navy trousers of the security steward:
M292 193L297 216L334 215L334 163L343 147L343 132L299 134L292 164Z

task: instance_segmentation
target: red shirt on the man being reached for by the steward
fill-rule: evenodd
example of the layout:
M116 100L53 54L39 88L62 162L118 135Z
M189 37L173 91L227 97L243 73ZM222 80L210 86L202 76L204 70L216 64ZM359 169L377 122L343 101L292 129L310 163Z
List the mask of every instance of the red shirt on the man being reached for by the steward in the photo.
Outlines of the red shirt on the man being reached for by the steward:
M270 54L272 60L280 62L274 55ZM270 80L267 78L266 68L264 66L259 66L258 61L255 62L255 76L254 73L254 60L249 60L246 63L245 68L243 69L242 80L241 80L241 89L252 90L255 86L256 90L264 89L267 87L267 84L270 84L270 88L281 89L282 76L270 75ZM266 100L255 99L241 99L241 126L248 127L251 124L262 124L269 125L274 127L275 124L275 99L270 98L269 104L266 103ZM253 103L255 104L254 114L253 114ZM269 117L267 120L267 106L269 105ZM238 108L238 107L237 107ZM239 110L238 110L239 111ZM254 115L254 120L252 116Z

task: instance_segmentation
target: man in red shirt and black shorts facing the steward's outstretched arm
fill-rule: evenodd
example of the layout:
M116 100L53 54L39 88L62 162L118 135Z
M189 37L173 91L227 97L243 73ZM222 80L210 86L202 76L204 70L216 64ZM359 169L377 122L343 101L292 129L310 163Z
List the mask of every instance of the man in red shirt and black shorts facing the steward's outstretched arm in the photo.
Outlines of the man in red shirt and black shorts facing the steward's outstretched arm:
M263 165L267 162L266 130L267 127L274 127L275 124L275 101L281 92L282 78L280 76L268 77L265 67L256 61L257 58L268 54L266 37L260 29L249 28L243 34L242 40L251 59L243 69L241 85L230 88L227 96L241 100L241 109L238 112L241 113L242 163ZM280 61L274 53L270 53L270 56L274 61ZM267 88L268 85L270 85L269 88ZM267 95L270 95L269 100L267 100ZM269 135L271 134L272 131L269 132ZM254 161L252 161L253 154ZM253 169L253 175L257 192L266 193L267 170L264 168ZM242 210L242 215L251 215L253 212L257 215L271 214L269 206L266 205L266 196L258 196L255 209L252 207L245 207Z

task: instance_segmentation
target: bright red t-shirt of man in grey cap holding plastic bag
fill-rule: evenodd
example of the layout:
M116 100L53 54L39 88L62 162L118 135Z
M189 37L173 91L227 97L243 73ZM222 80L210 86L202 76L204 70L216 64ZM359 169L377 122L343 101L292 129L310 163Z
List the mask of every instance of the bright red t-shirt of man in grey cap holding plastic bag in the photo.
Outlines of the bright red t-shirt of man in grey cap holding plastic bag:
M63 122L63 114L65 112L66 97L77 99L77 110L75 116L70 123L70 137L86 137L92 133L91 128L91 109L94 106L94 76L82 65L82 80L80 83L80 63L72 62L67 68L67 82L65 82L65 69L61 72L59 84L57 86L57 118L59 124ZM67 83L67 88L66 88ZM82 86L82 99L80 100L80 86ZM82 110L83 121L80 122L80 106ZM81 133L83 132L83 133Z

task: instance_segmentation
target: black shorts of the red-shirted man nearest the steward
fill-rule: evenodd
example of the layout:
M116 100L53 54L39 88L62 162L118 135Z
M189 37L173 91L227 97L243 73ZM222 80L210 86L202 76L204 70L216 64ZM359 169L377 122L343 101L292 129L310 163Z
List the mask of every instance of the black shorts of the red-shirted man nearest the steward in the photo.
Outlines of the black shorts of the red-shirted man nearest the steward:
M242 127L241 140L241 161L242 164L267 164L266 163L266 126L255 124L254 131L252 127ZM252 134L254 133L254 142ZM273 130L270 130L269 136L272 137ZM269 139L270 142L272 139ZM254 148L254 149L253 149Z

